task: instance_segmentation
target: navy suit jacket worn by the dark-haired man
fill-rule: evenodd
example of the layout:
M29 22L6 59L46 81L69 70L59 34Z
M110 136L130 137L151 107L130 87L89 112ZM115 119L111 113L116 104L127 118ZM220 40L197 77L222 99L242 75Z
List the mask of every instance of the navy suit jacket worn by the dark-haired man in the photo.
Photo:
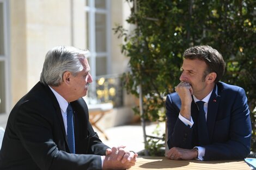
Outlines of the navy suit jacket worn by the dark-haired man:
M180 107L181 101L177 93L167 95L168 147L191 149L198 146L197 105L193 100L192 128L179 119ZM205 147L205 161L243 159L248 156L252 127L247 98L241 87L222 82L215 85L208 103L207 126L210 144L202 146Z

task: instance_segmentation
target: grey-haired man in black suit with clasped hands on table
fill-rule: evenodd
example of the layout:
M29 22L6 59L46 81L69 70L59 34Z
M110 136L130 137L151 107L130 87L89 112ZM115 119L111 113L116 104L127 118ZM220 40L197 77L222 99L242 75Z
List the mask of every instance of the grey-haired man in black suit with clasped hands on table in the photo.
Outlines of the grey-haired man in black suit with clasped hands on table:
M46 54L39 83L11 111L0 169L125 169L138 154L101 142L89 122L93 79L87 51L58 46Z

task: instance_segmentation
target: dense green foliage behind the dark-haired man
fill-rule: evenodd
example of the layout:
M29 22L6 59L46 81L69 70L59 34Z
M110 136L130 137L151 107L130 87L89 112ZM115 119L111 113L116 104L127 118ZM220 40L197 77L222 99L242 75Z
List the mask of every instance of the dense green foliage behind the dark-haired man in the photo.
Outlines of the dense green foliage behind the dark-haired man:
M150 120L164 119L164 96L179 83L182 53L191 46L209 45L227 63L222 81L243 87L251 110L256 148L256 1L169 1L137 0L127 22L128 32L118 26L123 37L122 52L129 57L130 71L123 81L128 92L138 96L142 86L143 109ZM138 108L135 108L138 112Z

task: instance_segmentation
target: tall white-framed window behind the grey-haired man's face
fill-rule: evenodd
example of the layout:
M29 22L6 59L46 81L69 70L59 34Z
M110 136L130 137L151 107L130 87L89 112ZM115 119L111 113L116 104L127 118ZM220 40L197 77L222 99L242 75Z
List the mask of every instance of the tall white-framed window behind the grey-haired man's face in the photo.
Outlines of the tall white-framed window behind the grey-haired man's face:
M86 0L86 48L94 80L111 73L111 21L109 0ZM89 98L96 97L96 81L90 87Z

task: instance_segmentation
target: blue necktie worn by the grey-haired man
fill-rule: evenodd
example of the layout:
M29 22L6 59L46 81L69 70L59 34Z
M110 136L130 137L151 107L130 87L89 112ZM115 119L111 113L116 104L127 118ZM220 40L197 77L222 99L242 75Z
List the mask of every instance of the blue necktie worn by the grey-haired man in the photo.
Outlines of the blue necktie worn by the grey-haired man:
M67 136L70 153L75 154L75 135L74 135L74 124L73 124L73 110L71 105L68 105L66 109L66 123L67 123Z

